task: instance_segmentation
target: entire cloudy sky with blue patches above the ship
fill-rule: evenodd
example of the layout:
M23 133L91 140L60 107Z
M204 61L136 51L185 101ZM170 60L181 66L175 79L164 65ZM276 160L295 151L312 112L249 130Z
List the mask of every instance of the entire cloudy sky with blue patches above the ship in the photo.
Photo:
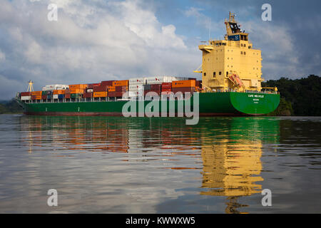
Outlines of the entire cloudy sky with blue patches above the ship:
M272 21L263 21L263 4ZM49 4L58 6L49 20ZM185 76L201 64L200 41L222 39L233 11L262 51L263 78L321 76L321 1L1 0L0 100L28 81L95 83Z

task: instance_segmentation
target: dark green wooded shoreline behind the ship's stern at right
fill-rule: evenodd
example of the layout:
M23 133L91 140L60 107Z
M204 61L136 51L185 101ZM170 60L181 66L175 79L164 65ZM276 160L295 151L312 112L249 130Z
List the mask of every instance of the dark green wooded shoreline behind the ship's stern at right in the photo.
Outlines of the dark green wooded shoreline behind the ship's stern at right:
M280 105L275 115L321 115L321 77L269 80L263 87L277 87L281 95ZM292 107L290 107L292 105ZM292 111L291 111L292 109Z

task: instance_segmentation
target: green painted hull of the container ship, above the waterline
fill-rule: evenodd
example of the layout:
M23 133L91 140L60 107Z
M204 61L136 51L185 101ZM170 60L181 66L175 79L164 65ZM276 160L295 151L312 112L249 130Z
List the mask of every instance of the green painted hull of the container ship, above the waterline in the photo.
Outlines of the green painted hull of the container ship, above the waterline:
M263 115L275 110L280 102L279 94L270 93L226 92L199 93L199 95L200 115ZM122 108L126 102L21 103L21 105L24 113L29 115L122 115ZM148 103L150 101L145 101L145 105ZM175 113L177 105L175 101Z

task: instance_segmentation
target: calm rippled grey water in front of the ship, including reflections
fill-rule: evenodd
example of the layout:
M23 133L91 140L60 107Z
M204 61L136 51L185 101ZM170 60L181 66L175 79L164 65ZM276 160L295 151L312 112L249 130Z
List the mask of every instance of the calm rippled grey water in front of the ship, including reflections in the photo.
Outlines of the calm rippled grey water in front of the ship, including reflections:
M0 115L0 136L1 213L321 212L321 118Z

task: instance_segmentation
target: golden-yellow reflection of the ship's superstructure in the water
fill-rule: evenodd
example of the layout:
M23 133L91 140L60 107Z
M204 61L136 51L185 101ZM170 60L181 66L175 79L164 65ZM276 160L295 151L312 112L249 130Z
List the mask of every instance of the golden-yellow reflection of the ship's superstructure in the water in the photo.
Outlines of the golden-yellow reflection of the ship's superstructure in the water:
M224 141L216 142L213 147L202 147L202 187L209 190L201 194L235 197L260 192L258 182L263 178L258 175L262 170L262 144L248 142L230 145L228 140Z

